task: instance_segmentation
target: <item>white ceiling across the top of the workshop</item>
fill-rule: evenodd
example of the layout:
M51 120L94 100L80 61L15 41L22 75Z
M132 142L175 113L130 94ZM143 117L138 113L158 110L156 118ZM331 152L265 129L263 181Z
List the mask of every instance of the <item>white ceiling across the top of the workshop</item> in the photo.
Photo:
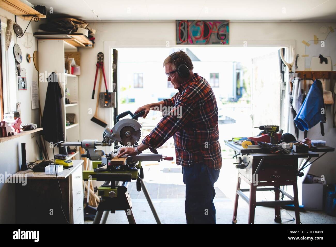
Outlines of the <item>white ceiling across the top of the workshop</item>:
M87 21L336 20L336 0L28 0Z

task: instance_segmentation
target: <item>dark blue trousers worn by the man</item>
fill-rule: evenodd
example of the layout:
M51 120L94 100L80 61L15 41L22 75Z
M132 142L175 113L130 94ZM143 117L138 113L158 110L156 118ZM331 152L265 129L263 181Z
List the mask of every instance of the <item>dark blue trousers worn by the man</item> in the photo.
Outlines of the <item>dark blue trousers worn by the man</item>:
M203 163L182 166L185 183L185 217L187 224L215 224L216 209L213 204L219 170L209 168Z

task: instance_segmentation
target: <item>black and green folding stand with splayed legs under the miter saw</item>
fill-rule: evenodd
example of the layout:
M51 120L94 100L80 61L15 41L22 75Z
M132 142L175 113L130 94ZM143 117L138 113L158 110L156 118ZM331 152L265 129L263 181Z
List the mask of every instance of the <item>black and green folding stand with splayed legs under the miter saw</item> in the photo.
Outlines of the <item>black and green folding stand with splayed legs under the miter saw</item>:
M142 181L143 169L141 162L136 162L131 168L137 170L136 187L137 191L143 191L145 198L152 210L154 218L158 224L161 224L158 214L154 208L151 197L147 191L147 188ZM132 174L133 173L133 174ZM135 224L135 219L132 212L132 202L127 192L128 184L131 180L134 180L134 171L132 173L95 173L92 174L92 178L97 181L105 181L99 188L95 187L94 192L98 191L98 196L101 196L97 212L93 220L93 224L106 224L109 217L109 213L115 213L116 211L125 211L127 220L130 224Z

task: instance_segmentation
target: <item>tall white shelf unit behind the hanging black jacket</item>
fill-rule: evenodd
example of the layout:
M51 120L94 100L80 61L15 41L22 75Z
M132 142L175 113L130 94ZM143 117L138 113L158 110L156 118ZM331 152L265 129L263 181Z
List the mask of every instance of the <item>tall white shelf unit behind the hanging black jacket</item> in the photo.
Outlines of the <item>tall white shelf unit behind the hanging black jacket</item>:
M70 49L68 49L70 48ZM53 40L38 40L38 50L39 50L39 71L47 71L47 73L55 72L59 77L59 86L62 91L63 97L61 98L61 108L62 108L62 117L64 120L64 135L66 141L79 141L79 91L78 91L78 80L79 76L66 74L65 72L65 55L67 51L77 51L76 47L70 47L65 40L53 39ZM45 75L47 77L47 75ZM45 97L47 92L48 83L39 82L39 91L40 91L40 104L41 110L43 112ZM66 95L66 88L69 89L70 96ZM65 99L68 98L70 102L75 102L73 104L65 104ZM76 115L75 123L66 126L66 114L74 113ZM47 143L49 146L49 143ZM73 149L74 147L70 147ZM48 149L49 156L52 156L52 150ZM71 156L71 155L70 155ZM75 159L80 159L79 152L76 152L72 157Z

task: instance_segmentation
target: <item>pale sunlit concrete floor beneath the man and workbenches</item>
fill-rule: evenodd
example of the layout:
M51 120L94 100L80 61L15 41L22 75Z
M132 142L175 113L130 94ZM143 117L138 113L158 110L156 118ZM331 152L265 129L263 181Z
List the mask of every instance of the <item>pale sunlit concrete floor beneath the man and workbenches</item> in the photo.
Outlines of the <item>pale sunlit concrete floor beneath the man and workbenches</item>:
M160 151L164 153L163 150ZM232 163L232 159L223 160L223 166L219 179L214 185L216 190L216 197L214 199L216 207L216 223L219 224L231 224L232 222L235 187L237 181L237 169ZM165 224L185 224L185 186L182 181L181 167L177 167L177 165L175 163L171 163L171 161L162 161L158 164L143 162L142 166L144 168L144 181L146 187L161 222ZM247 184L244 185L242 183L241 187L247 188ZM132 211L136 223L156 223L143 192L136 191L135 181L130 183L128 191L132 199ZM274 200L274 194L272 194L272 192L258 192L257 201L262 200ZM295 224L293 217L295 217L295 212L293 210L282 210L282 223ZM323 211L300 212L300 219L302 224L336 223L336 217L329 216ZM246 224L247 222L248 204L240 198L238 204L237 223ZM85 223L92 223L92 221L87 220ZM127 224L128 221L124 211L117 211L115 214L109 215L107 223ZM256 207L255 223L277 224L274 222L274 208Z

